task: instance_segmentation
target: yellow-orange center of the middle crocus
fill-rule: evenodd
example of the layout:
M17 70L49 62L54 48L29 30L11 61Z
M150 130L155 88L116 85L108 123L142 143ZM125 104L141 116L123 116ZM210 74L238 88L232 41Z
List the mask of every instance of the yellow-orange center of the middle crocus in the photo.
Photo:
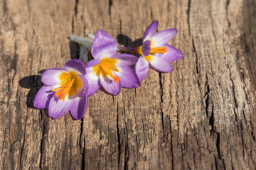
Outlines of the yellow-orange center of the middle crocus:
M114 82L118 82L119 77L115 77L112 73L112 71L119 72L117 67L115 67L116 63L117 60L114 60L113 58L104 58L101 60L100 64L92 67L93 72L95 72L97 76L101 74L102 77L107 77L107 75L109 75L114 80Z

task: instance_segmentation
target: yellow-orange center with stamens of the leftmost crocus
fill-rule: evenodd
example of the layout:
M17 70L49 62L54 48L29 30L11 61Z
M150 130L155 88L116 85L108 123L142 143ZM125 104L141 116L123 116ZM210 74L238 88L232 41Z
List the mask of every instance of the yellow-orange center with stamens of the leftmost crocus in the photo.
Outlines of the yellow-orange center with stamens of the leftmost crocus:
M63 72L60 74L59 79L61 81L60 87L53 89L52 91L57 91L55 97L60 96L60 100L65 100L68 96L77 96L78 89L82 87L82 79L78 77L76 72Z

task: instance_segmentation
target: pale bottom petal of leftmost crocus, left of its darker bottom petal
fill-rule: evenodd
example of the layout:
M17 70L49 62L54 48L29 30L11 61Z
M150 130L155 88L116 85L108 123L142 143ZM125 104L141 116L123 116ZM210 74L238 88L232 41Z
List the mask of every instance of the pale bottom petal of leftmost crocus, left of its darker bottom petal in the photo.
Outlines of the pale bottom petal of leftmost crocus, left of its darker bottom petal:
M65 113L68 113L70 111L71 106L73 106L75 100L69 99L68 96L65 98L65 100L58 100L58 98L55 98L53 95L52 98L50 98L49 103L49 109L48 113L50 118L60 118L61 116L65 115Z

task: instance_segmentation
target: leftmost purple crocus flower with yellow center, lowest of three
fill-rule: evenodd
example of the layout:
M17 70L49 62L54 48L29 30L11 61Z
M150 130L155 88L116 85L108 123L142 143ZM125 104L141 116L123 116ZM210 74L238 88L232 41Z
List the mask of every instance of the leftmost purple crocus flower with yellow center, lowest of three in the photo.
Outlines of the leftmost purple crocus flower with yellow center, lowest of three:
M43 86L36 94L33 106L48 108L51 118L60 118L70 111L74 119L81 119L87 108L88 83L84 78L85 65L70 60L64 68L50 68L43 72Z

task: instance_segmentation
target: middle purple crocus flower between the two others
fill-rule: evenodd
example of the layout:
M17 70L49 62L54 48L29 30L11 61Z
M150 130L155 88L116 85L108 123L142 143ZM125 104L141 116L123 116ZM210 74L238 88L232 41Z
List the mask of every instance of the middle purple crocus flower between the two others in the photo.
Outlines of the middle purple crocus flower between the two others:
M104 30L98 30L92 43L92 57L85 64L85 79L88 80L89 89L87 97L95 94L100 86L107 93L119 94L121 86L125 88L136 88L140 86L139 78L134 69L129 67L135 64L138 59L134 55L119 54L117 42Z

